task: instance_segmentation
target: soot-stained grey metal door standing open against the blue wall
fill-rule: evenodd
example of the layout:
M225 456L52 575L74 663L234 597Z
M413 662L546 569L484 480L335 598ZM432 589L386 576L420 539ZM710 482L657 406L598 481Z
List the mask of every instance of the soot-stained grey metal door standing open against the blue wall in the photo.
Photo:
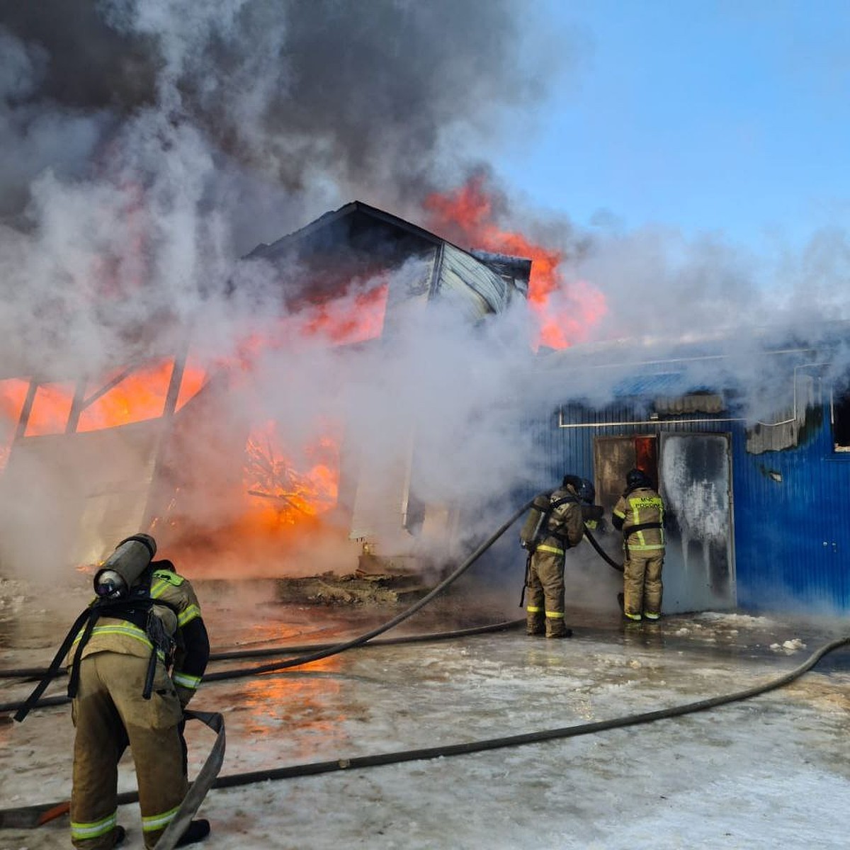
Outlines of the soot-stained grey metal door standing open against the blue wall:
M666 507L666 614L734 608L732 478L727 433L660 434Z

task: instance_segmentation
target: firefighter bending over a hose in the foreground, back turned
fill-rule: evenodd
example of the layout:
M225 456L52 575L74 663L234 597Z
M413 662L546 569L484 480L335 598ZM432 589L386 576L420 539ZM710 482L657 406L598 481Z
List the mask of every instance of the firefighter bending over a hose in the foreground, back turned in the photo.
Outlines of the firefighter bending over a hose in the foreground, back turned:
M152 544L153 557L150 536L127 540ZM71 842L80 850L110 850L124 839L116 823L116 785L127 744L139 784L144 847L156 845L189 790L183 711L209 658L195 591L171 561L150 560L130 588L119 587L121 575L112 578L116 601L80 630L66 660L76 728ZM104 596L111 587L95 582ZM177 847L201 841L209 831L207 820L193 820Z

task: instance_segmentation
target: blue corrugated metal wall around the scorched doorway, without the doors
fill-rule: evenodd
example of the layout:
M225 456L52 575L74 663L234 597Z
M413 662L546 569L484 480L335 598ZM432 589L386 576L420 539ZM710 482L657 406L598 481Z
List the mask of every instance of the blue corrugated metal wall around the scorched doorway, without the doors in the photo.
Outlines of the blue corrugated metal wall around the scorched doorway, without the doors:
M810 411L811 415L812 411ZM604 413L565 409L564 422L634 422L631 405ZM747 453L741 422L663 421L649 425L559 428L557 416L540 429L544 477L565 472L593 477L593 438L657 433L732 434L734 555L738 605L749 611L812 614L850 611L850 455L835 453L829 411L796 448Z

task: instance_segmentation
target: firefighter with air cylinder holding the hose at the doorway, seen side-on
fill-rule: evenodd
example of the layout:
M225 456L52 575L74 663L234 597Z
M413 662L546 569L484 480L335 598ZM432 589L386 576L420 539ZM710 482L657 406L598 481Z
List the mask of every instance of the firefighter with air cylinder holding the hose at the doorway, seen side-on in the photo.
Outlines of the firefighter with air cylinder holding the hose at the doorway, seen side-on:
M530 554L525 587L525 631L547 638L569 638L564 623L564 553L584 536L581 479L564 475L549 496L540 539Z

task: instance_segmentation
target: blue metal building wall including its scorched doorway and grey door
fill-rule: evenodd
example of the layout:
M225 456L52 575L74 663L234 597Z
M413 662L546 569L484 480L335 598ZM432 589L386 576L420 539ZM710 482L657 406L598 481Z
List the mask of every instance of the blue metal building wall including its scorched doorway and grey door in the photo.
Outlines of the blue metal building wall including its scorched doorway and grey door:
M622 473L636 463L653 470L675 538L666 589L682 590L682 572L693 579L701 570L702 578L678 605L666 597L667 610L850 611L846 397L816 378L799 390L796 411L779 405L774 420L757 428L728 403L714 412L676 405L643 394L604 409L565 403L547 411L535 426L546 483L565 472L595 480L609 517ZM689 539L689 519L700 516ZM619 547L612 540L609 534L609 553Z

